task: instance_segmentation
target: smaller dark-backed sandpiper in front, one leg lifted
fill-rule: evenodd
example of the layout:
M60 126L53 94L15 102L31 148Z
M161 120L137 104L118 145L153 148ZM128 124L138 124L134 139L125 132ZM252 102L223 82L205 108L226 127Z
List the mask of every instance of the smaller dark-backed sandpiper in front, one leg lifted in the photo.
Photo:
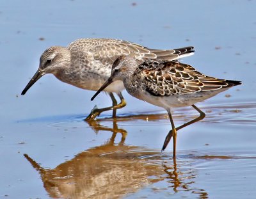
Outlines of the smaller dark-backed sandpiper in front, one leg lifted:
M166 109L172 130L166 136L162 150L173 137L173 157L176 154L177 130L205 117L205 113L198 109L195 103L241 84L240 81L205 76L190 65L179 61L146 60L140 64L134 58L120 56L113 63L108 81L93 95L92 100L116 80L123 81L125 89L133 97ZM175 128L171 107L182 106L192 106L200 116Z

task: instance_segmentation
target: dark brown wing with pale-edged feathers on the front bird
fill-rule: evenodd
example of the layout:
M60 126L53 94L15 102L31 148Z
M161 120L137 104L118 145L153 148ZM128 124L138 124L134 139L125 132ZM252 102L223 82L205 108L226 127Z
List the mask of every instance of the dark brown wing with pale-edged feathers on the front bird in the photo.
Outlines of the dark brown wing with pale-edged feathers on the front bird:
M143 77L144 89L156 96L205 92L228 86L225 79L205 76L178 61L147 60L136 69L136 74Z

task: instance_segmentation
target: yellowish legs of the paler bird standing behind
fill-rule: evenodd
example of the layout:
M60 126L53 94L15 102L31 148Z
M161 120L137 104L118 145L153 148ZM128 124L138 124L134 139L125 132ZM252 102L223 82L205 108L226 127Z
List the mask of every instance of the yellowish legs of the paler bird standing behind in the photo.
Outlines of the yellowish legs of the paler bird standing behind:
M110 94L110 97L111 95L113 96L113 98L115 99L113 93ZM89 121L89 120L94 120L97 116L100 115L100 113L104 112L104 111L109 111L109 110L114 110L114 109L120 109L122 107L124 107L126 105L126 102L125 102L125 99L122 95L122 93L118 93L117 94L118 97L120 98L121 102L120 104L117 104L115 106L109 106L109 107L104 107L102 109L98 109L97 106L93 107L90 115L88 115L86 118L85 118L85 121ZM111 97L112 101L113 101L113 98ZM116 101L116 100L115 100ZM113 104L114 104L114 101L113 101ZM114 113L114 111L113 111Z

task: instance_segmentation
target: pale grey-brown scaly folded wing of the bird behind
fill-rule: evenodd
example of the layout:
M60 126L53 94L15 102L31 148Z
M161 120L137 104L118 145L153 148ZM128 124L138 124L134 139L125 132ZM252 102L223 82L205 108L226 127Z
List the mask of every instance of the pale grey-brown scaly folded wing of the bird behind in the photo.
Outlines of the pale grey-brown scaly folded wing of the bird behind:
M193 54L193 47L184 47L173 50L148 49L142 45L115 39L80 39L70 46L79 46L79 49L91 52L95 60L112 64L121 55L129 55L137 60L176 60Z

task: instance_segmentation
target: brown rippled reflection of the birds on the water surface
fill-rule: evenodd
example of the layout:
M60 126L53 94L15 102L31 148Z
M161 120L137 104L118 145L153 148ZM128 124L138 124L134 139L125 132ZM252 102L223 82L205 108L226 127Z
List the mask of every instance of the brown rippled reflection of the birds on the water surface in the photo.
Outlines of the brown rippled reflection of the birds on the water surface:
M191 179L196 177L193 171L189 170L191 173L184 177L184 173L177 170L175 160L173 165L161 164L163 154L159 151L125 145L127 132L118 129L116 121L113 122L113 128L104 127L98 122L90 125L95 131L113 132L109 141L77 154L54 169L43 168L29 155L24 154L33 168L40 173L44 188L51 198L122 198L166 179L170 179L168 183L174 192L191 191L200 198L207 198L203 189L191 187ZM122 138L115 144L117 133L121 133ZM146 156L152 159L149 161L142 158ZM179 187L182 189L179 190Z

